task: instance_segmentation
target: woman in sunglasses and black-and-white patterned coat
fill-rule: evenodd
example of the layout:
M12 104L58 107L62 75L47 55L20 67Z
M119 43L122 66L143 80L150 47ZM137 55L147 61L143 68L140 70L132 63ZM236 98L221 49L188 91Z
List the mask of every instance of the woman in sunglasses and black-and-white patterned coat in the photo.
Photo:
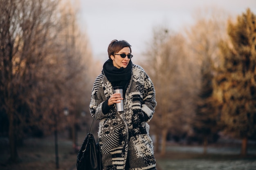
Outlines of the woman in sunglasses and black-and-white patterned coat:
M99 122L103 170L155 170L148 121L155 111L155 89L143 68L132 64L131 45L113 40L109 59L95 79L90 112ZM123 96L113 87L122 86ZM124 100L124 111L116 104Z

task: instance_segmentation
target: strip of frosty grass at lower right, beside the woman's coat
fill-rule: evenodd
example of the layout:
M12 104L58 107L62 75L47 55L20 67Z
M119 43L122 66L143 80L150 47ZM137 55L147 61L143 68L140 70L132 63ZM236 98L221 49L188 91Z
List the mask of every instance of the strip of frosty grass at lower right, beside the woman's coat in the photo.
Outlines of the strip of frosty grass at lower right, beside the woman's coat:
M256 170L256 155L168 152L156 160L158 170Z

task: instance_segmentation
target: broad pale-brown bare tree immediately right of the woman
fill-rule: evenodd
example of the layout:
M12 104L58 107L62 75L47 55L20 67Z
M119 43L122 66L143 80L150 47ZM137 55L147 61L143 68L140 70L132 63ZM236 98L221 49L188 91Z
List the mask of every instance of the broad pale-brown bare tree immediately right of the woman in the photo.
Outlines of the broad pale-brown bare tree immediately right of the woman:
M191 89L194 86L191 63L186 60L183 36L170 33L164 27L154 30L146 55L149 62L144 67L154 83L157 100L150 124L156 136L156 151L161 137L161 155L164 155L168 133L180 138L190 130L187 125L191 117L189 110L193 110Z

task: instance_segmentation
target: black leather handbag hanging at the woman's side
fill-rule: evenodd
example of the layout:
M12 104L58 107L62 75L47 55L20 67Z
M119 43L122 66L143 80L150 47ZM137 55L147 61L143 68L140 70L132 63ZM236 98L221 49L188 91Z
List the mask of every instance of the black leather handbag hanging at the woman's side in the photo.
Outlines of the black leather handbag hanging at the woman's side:
M77 170L102 170L101 167L101 150L99 142L96 144L92 135L92 127L94 119L88 134L77 154L76 169Z

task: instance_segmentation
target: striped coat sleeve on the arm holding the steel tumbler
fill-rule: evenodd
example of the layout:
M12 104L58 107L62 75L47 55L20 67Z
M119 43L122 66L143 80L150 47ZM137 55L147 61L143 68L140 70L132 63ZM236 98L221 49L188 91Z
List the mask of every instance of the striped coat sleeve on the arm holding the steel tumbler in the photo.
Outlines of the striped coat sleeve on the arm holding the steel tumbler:
M102 88L102 78L103 74L99 75L93 84L92 88L92 96L90 101L90 113L92 117L94 117L96 120L100 120L105 118L107 115L103 114L102 112L102 105L105 102L106 99L103 98L104 92Z

